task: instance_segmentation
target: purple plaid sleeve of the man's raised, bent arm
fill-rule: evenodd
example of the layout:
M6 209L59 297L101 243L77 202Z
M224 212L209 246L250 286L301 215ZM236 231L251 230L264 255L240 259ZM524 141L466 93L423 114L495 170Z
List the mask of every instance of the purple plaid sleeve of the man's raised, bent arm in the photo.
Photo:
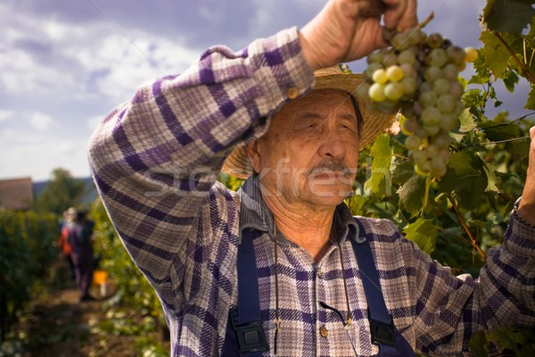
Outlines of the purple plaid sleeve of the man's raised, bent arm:
M96 129L89 161L99 194L164 300L182 284L188 239L226 154L266 131L289 88L304 94L313 84L297 29L286 29L237 53L210 48L184 73L144 84Z

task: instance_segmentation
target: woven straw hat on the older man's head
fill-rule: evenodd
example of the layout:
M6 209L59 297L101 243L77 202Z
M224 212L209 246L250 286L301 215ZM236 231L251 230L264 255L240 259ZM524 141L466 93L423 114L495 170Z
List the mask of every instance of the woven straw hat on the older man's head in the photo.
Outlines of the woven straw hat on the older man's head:
M357 87L366 80L366 77L357 73L344 73L340 66L333 66L314 72L316 84L314 89L341 89L349 93L358 102L364 122L360 133L360 148L371 144L376 137L391 126L395 115L370 112L370 102L360 100L356 95ZM240 179L247 179L253 173L251 161L247 156L246 145L235 147L223 164L224 172Z

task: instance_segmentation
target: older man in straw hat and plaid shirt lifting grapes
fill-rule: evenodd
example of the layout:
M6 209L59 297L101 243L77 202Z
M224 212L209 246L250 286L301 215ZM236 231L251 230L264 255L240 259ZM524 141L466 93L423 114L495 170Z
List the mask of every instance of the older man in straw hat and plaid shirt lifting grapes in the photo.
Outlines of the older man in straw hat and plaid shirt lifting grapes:
M384 46L381 16L404 29L415 12L332 0L300 31L210 48L103 120L95 182L161 299L173 356L463 355L477 330L535 324L535 129L523 199L478 280L343 204L358 148L391 117L331 66ZM249 179L229 191L222 168Z

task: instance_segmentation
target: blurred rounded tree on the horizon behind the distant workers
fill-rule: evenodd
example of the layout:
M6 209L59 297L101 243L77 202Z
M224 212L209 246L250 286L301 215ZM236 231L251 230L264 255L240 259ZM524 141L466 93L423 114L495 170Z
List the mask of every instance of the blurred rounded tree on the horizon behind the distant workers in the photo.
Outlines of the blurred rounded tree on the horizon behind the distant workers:
M37 196L34 207L38 212L62 214L67 208L81 203L85 189L86 183L74 179L68 170L55 169L52 179Z

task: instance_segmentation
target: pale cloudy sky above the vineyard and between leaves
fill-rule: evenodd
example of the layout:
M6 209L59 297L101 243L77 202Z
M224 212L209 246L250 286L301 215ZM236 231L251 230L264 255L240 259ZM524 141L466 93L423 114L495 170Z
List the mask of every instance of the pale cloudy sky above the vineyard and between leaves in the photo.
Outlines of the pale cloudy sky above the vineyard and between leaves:
M421 0L427 32L480 46L485 0ZM144 80L184 71L211 45L235 50L302 27L325 0L3 0L0 179L89 176L86 145ZM350 64L362 70L363 61ZM469 70L467 70L469 71ZM516 102L514 100L516 99ZM522 107L525 95L510 99ZM509 103L509 102L507 102ZM509 107L507 108L514 112Z

